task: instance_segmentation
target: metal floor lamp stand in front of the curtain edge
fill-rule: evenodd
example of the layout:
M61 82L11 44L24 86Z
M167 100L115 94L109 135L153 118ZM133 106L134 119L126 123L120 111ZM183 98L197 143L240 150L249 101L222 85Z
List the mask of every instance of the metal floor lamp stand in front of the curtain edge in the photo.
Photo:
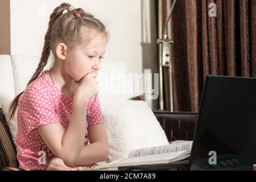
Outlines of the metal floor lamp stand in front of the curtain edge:
M169 1L169 0L167 0ZM176 0L172 3L170 13L167 16L166 22L164 23L164 31L163 31L163 0L158 0L158 27L159 27L159 38L156 40L158 43L158 51L159 51L159 107L160 110L163 110L163 67L168 67L168 78L169 78L169 91L170 91L170 110L174 111L173 100L172 100L172 54L171 54L171 45L174 44L171 38L168 38L168 22L171 18L172 10L174 9Z

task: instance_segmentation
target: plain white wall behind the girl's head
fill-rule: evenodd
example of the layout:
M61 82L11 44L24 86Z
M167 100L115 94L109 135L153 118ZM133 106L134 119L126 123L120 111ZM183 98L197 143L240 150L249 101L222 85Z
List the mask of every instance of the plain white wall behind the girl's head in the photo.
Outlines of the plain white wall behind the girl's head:
M110 41L104 61L125 61L130 73L157 72L151 0L11 0L11 55L41 55L49 15L63 2L89 11L105 23ZM151 101L148 104L155 107Z

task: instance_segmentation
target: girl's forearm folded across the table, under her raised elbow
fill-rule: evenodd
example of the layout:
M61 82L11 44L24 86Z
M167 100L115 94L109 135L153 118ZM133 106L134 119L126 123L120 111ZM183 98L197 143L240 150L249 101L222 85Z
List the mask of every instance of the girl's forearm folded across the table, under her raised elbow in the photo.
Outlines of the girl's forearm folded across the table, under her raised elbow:
M104 124L89 126L88 135L90 144L82 148L78 166L102 162L108 158L109 147Z

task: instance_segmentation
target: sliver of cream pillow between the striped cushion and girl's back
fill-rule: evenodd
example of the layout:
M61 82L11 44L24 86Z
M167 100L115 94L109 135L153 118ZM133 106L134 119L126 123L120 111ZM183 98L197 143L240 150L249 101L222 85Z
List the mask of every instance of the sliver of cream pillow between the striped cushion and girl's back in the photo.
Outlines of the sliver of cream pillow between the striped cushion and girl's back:
M9 118L9 114L8 114L8 110L9 110L9 106L11 105L11 102L3 102L2 104L2 110L3 110L3 114L5 115L7 124L9 126L9 130L11 133L11 138L13 138L13 143L16 147L16 151L18 152L18 147L16 146L16 134L18 131L18 126L17 126L17 110L14 114L13 119L11 119L11 121L8 120Z

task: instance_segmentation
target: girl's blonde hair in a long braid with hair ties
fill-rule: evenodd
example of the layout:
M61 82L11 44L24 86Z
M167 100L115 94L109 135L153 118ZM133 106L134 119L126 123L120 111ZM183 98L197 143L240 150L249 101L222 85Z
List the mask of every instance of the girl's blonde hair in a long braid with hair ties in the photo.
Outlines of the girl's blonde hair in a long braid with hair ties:
M67 13L64 13L63 11L67 11ZM76 17L76 14L80 14L81 17ZM42 73L51 51L53 53L53 64L55 63L55 49L57 44L64 43L68 49L71 50L88 40L90 37L89 31L82 30L83 27L86 27L86 30L96 30L104 34L106 40L108 40L108 32L106 31L104 24L101 23L100 20L94 18L92 14L86 13L81 8L75 9L68 3L62 3L60 6L55 8L50 16L48 30L44 36L44 47L40 63L27 85L38 78ZM18 107L19 97L23 92L18 94L18 96L16 96L11 102L9 107L9 121L14 117L15 111Z

